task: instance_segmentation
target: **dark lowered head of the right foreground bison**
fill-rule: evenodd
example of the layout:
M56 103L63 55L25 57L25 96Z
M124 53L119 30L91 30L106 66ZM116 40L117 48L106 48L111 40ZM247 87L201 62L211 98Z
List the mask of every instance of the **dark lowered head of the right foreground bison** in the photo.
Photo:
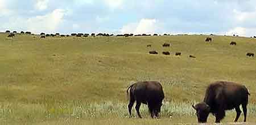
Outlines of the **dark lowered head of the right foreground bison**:
M205 102L201 102L200 104L192 105L193 109L196 110L197 121L199 123L206 123L208 115L210 113L209 105L205 104Z

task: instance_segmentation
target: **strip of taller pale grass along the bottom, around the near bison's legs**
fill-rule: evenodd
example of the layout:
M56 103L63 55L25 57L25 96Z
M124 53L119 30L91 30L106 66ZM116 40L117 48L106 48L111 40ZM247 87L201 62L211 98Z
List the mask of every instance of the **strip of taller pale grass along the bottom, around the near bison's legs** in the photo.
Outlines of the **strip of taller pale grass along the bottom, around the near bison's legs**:
M161 118L196 118L192 103L164 101ZM143 118L150 118L146 105L141 106ZM236 114L235 111L227 111L227 116ZM256 117L256 105L249 105L249 117ZM133 108L132 117L137 118ZM51 120L59 118L97 119L97 118L129 118L127 104L118 101L106 101L102 103L72 102L69 104L0 104L1 122L37 122L39 120Z

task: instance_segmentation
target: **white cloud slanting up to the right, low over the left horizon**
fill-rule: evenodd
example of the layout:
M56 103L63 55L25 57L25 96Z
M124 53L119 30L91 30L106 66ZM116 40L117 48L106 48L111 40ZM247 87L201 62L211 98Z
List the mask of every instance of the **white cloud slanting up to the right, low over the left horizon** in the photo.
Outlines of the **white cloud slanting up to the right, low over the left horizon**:
M60 23L64 19L65 10L56 9L44 16L36 16L27 20L28 31L39 32L55 32Z

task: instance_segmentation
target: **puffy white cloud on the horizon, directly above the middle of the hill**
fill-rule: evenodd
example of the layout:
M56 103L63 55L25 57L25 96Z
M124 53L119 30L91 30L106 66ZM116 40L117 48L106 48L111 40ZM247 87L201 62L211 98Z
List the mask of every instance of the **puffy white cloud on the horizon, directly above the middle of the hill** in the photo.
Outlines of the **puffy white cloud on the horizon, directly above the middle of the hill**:
M130 23L122 27L122 33L155 33L158 30L158 21L156 19L141 19L139 23Z

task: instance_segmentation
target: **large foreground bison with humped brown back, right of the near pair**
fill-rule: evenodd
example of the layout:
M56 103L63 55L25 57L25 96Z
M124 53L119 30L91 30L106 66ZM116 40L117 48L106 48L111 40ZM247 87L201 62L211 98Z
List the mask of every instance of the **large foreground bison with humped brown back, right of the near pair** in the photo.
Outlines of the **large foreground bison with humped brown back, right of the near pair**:
M228 81L216 81L208 86L204 101L192 105L196 110L197 120L199 123L206 123L209 113L212 113L215 117L216 123L225 117L225 110L236 109L237 116L234 122L237 122L240 117L242 105L244 119L246 122L247 104L248 104L248 92L244 85L240 85Z

